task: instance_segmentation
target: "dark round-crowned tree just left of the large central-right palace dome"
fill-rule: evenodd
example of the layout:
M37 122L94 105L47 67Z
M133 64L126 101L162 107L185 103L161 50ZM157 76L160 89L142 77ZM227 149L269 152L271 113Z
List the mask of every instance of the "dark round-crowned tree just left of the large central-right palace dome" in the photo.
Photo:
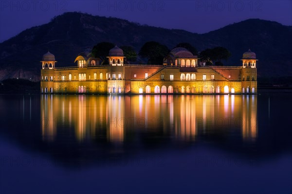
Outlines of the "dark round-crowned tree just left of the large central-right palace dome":
M147 64L162 65L164 57L169 53L169 49L158 42L146 42L140 49L139 55L148 58Z

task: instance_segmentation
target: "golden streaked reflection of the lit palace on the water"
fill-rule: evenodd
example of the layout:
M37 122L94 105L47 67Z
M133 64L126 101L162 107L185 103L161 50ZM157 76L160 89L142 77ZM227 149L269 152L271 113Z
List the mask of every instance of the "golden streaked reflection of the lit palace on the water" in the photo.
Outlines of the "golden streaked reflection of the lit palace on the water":
M238 132L244 140L254 140L256 114L254 95L41 96L44 141L54 141L64 130L72 130L78 141L104 137L123 142L127 135L144 132L183 141Z

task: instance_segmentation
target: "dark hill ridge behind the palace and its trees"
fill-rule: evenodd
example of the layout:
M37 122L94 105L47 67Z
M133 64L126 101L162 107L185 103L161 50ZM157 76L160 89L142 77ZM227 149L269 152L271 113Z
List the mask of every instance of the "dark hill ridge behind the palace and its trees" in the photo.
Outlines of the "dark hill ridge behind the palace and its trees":
M0 80L31 78L39 81L39 61L48 50L55 54L57 66L73 66L79 52L102 41L132 46L137 51L147 41L158 41L169 49L180 42L188 42L199 51L222 46L232 53L231 58L223 62L225 65L241 65L242 53L250 48L259 60L259 77L292 75L292 27L277 22L248 19L198 34L69 12L0 43Z

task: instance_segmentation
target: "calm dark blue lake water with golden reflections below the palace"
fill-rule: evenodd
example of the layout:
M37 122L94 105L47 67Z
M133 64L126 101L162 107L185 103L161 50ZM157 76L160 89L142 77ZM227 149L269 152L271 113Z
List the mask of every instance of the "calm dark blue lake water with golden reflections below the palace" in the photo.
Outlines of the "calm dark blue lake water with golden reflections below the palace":
M292 193L291 99L0 96L0 193Z

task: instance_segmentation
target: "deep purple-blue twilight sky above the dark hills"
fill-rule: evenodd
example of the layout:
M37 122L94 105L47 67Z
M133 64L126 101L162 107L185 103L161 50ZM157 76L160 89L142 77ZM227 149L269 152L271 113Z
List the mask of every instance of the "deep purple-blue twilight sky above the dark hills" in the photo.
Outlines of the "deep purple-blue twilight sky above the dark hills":
M292 26L291 0L0 0L0 42L73 11L197 33L249 18Z

